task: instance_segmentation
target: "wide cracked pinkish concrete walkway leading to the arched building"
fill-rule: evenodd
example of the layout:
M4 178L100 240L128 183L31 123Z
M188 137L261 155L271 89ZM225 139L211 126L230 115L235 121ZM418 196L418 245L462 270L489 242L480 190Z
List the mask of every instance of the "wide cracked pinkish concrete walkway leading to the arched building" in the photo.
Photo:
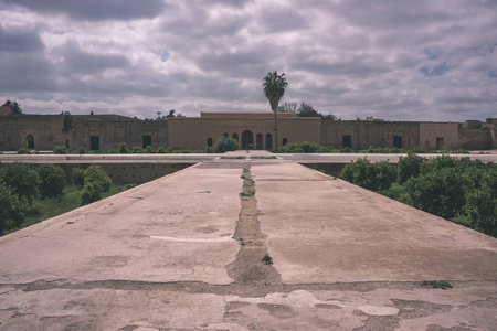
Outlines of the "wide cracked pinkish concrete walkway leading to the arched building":
M0 329L497 330L497 239L231 156L1 237Z

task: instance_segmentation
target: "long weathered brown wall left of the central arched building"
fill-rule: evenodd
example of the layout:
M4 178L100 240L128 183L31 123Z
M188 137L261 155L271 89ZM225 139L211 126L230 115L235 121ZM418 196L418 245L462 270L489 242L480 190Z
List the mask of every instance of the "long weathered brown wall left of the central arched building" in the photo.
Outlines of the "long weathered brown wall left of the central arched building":
M0 117L0 150L13 151L21 147L53 150L55 146L66 146L71 149L83 147L92 150L92 136L98 137L96 151L115 149L121 142L127 143L129 148L142 147L144 136L149 136L151 146L155 148L169 145L166 120L144 121L117 115L63 114ZM30 139L32 139L31 146Z

